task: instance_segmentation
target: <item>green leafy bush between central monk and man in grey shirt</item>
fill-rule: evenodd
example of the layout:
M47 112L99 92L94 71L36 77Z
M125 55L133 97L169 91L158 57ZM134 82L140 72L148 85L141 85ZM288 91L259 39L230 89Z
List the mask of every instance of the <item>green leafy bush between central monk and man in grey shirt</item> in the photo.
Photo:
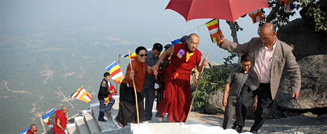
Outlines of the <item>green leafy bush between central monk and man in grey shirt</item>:
M227 58L224 58L225 65L223 67L217 68L214 66L211 70L204 70L203 75L200 80L199 89L197 90L197 96L193 103L194 107L203 106L204 102L210 99L212 94L219 90L224 90L226 79L231 73L231 71L235 68L235 66L231 65L234 57L237 56L237 53L232 53ZM195 92L192 94L194 95Z

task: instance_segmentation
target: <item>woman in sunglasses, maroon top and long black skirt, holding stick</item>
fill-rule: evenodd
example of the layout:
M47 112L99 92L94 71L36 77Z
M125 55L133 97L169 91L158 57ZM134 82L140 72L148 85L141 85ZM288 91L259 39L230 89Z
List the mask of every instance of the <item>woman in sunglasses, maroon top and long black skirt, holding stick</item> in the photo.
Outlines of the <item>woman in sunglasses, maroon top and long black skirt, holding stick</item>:
M119 89L119 110L115 121L117 121L118 125L121 127L126 126L127 123L137 122L133 77L137 95L139 121L147 121L144 112L144 102L141 97L142 86L147 72L147 63L145 62L148 56L147 49L143 46L139 46L136 48L135 53L136 57L131 61L133 70L131 70L130 64L128 64L125 78L120 84Z

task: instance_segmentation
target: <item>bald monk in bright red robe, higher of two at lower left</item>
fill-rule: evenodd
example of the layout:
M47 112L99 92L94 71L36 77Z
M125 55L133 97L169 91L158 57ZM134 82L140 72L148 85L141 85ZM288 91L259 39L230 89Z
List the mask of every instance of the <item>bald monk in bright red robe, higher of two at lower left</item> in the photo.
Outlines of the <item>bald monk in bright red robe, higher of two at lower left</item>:
M68 112L68 107L62 106L61 110L55 111L57 116L55 118L56 124L53 125L55 134L66 134L65 128L67 124L66 113Z

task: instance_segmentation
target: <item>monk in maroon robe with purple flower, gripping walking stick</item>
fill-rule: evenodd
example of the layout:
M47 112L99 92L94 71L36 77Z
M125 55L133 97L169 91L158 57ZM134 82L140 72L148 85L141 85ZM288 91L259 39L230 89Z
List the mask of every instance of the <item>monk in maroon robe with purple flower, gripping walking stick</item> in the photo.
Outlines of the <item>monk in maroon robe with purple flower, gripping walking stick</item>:
M190 34L186 43L174 44L165 50L160 56L156 65L152 67L154 74L157 74L158 66L167 54L172 53L170 64L165 74L164 98L157 106L159 113L158 121L168 113L167 119L170 122L185 122L191 105L191 71L197 66L201 71L203 65L208 61L203 59L202 53L197 49L199 45L199 36ZM201 65L200 65L201 64Z

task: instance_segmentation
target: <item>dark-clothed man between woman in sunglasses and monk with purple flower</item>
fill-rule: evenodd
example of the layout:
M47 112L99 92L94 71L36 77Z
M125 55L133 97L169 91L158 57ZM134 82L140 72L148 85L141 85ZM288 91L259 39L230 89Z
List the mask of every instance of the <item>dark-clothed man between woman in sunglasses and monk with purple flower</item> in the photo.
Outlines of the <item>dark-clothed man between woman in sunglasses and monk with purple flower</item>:
M159 60L159 55L163 49L163 46L160 43L155 43L153 45L152 51L148 52L148 57L146 59L147 62L147 72L149 74L152 73L151 67L157 63ZM140 55L142 56L142 55ZM142 88L142 98L144 98L144 95L146 96L146 116L147 120L151 120L152 118L152 107L153 107L153 102L155 100L155 93L156 89L154 88L155 86L155 76L154 75L146 75L146 78L144 79L144 84Z

